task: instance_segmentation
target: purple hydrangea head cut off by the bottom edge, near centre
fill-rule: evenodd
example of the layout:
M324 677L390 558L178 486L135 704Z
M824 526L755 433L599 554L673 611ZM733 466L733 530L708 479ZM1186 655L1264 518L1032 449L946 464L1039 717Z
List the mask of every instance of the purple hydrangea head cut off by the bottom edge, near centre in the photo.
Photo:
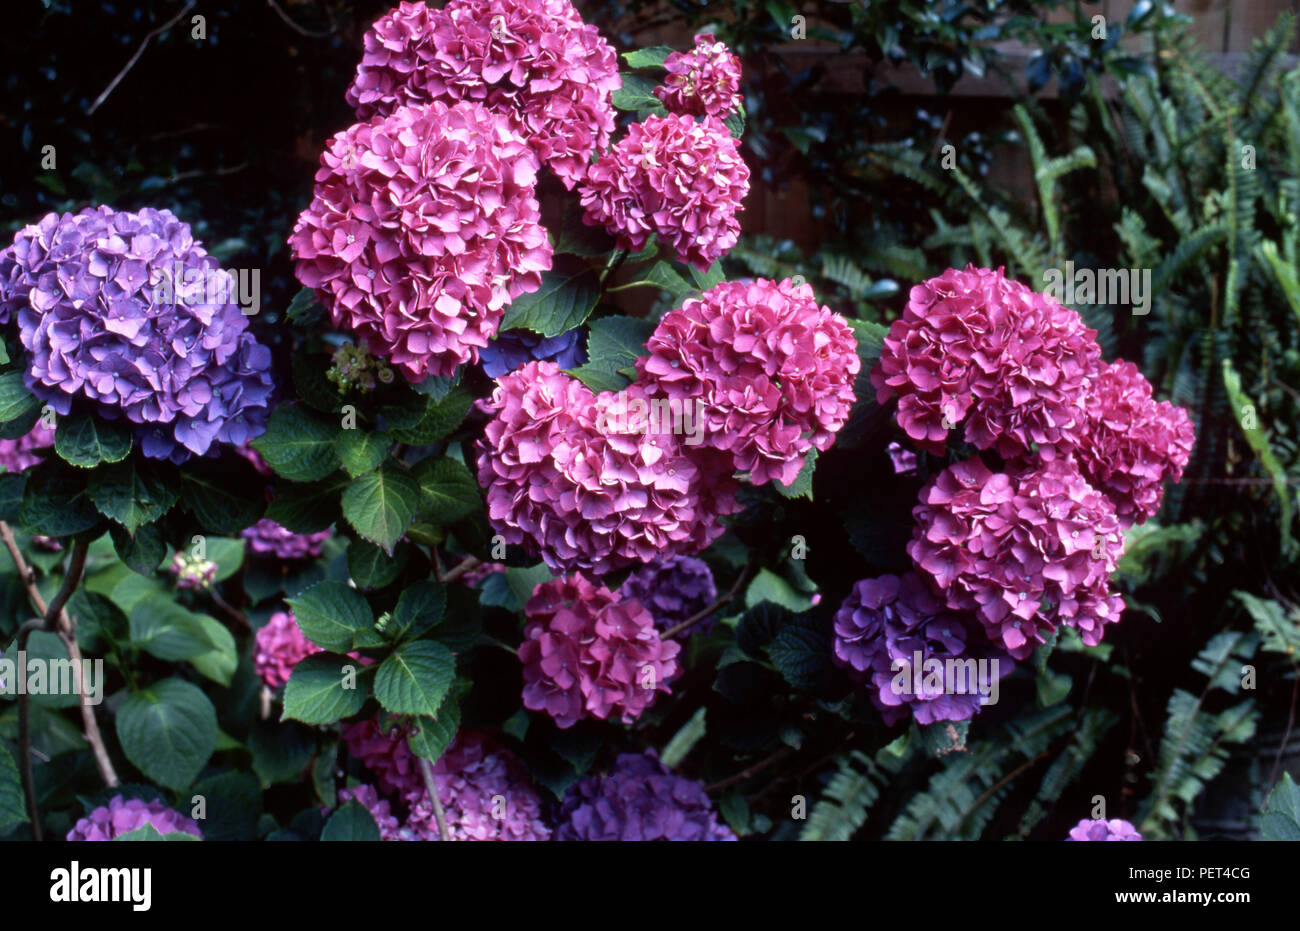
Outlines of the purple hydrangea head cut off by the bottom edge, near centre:
M673 775L654 750L624 753L606 776L571 785L555 840L736 840L705 787Z

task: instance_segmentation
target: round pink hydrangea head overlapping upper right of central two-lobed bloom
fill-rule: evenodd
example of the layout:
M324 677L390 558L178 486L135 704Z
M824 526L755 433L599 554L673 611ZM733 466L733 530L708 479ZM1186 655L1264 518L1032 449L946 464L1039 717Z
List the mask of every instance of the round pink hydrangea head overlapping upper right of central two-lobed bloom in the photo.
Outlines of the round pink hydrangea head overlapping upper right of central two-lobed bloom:
M659 321L637 376L650 394L696 411L705 445L751 482L789 485L849 419L857 347L809 285L724 281Z

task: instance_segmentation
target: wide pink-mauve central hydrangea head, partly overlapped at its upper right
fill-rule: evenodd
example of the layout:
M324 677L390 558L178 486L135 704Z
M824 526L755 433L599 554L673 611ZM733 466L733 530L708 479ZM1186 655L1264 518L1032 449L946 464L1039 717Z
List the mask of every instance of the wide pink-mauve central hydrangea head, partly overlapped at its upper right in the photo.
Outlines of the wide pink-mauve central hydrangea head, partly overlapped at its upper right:
M552 361L497 385L478 452L488 516L507 544L537 546L552 571L604 575L696 553L738 510L719 452L688 445L671 423L632 423L637 404L649 407L638 386L595 395Z

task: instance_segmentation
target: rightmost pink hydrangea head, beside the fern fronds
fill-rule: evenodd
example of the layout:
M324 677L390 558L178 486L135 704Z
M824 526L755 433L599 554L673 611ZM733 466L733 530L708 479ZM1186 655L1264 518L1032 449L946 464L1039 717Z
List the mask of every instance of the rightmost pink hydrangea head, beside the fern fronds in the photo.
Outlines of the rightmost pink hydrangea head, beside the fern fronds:
M1098 367L1075 458L1088 481L1114 502L1124 528L1156 515L1164 482L1182 480L1195 442L1187 411L1157 403L1136 365Z

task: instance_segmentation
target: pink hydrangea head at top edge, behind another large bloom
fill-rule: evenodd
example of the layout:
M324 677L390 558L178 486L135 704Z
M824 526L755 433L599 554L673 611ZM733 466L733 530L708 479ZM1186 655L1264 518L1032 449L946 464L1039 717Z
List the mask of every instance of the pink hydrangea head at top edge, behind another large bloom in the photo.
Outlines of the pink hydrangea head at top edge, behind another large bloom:
M614 131L614 48L569 0L402 3L365 34L347 90L358 117L434 100L503 114L571 189Z

